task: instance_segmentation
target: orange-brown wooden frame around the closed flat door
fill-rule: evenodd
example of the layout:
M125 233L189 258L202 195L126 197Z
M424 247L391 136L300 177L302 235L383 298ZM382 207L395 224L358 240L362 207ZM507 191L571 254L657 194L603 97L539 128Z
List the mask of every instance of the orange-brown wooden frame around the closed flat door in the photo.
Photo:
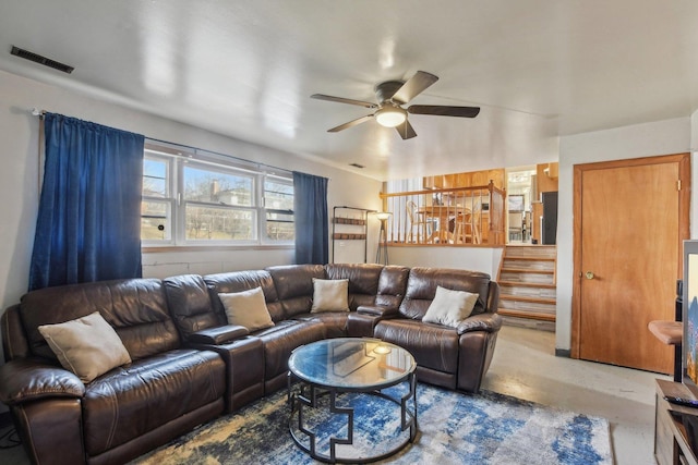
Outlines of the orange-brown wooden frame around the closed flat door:
M630 158L624 160L600 161L594 163L575 164L573 192L573 291L571 291L571 344L570 357L579 358L581 345L581 194L582 174L585 171L605 170L612 168L630 168L645 164L678 163L678 180L681 183L678 196L678 256L676 257L676 279L683 277L683 241L690 238L690 154L660 155L657 157Z

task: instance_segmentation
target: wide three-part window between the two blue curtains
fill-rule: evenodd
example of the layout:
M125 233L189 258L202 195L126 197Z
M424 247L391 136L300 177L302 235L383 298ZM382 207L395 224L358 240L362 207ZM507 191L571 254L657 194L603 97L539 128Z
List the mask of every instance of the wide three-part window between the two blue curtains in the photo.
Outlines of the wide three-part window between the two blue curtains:
M222 156L148 145L141 224L146 246L290 244L293 182Z

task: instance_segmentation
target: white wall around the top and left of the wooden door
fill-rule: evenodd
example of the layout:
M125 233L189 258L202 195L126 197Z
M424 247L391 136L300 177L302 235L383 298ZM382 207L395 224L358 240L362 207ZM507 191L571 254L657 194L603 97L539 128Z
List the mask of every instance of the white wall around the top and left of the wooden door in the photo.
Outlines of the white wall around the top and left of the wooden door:
M694 124L694 126L696 125ZM698 133L695 134L698 135ZM689 118L637 124L561 138L556 348L566 351L571 345L574 166L597 161L687 152L690 150L690 139L691 119ZM697 178L694 175L693 180L695 184ZM691 193L694 208L697 204L696 191L694 187Z

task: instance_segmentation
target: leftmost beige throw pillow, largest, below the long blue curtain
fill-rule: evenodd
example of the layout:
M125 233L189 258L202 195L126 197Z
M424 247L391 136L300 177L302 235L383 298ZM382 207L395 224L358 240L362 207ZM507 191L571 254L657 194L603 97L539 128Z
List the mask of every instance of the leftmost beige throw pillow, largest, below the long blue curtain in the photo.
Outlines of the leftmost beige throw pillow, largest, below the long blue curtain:
M131 363L119 334L98 311L63 323L43 325L38 330L63 368L84 383Z

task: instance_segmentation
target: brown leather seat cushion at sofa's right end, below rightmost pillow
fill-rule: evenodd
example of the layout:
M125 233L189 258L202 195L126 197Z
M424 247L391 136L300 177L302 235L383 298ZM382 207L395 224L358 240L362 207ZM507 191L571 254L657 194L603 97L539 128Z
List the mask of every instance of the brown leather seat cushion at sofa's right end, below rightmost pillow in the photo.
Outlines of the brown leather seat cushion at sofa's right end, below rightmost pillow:
M374 336L407 348L417 365L455 374L458 370L458 331L441 325L417 320L395 319L381 321Z

